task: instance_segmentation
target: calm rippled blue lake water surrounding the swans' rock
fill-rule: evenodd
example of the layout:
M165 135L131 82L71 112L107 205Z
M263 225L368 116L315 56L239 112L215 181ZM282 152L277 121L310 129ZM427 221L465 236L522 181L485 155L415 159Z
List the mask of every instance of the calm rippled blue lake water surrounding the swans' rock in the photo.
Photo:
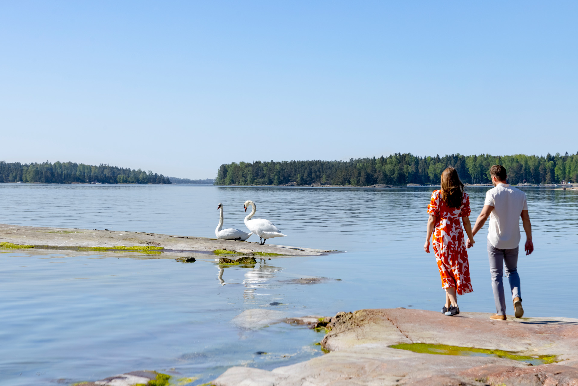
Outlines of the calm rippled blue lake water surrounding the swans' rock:
M230 322L246 310L288 317L438 311L444 293L435 257L423 252L433 189L0 184L1 223L214 237L218 203L225 227L244 229L243 203L253 200L257 218L289 235L272 244L345 252L220 269L212 256L187 264L168 253L2 251L0 384L66 384L149 369L198 385L230 366L272 369L323 355L315 345L323 333ZM487 189L468 189L472 223ZM568 302L578 290L578 193L525 192L535 245L518 262L525 316L578 318L578 304ZM458 299L462 311L495 312L486 232L487 225L468 249L474 292ZM312 277L327 280L294 281Z

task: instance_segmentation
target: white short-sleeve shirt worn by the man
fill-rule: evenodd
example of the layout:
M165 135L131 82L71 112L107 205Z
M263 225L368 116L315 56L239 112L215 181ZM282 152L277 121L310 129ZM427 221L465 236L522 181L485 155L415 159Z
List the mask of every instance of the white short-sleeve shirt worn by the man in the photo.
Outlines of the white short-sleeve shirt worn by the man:
M491 205L488 241L498 249L513 249L520 244L520 215L528 210L526 193L509 183L499 183L486 192L484 205Z

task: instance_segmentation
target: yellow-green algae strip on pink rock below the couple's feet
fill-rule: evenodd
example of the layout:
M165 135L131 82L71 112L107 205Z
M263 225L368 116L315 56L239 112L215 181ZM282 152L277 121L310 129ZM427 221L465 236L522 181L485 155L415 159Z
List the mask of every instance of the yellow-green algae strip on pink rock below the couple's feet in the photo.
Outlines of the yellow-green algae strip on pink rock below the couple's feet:
M464 355L464 356L497 356L498 358L512 359L532 363L532 365L543 365L544 363L558 362L556 355L517 355L512 351L489 350L487 348L460 347L446 344L427 344L427 343L399 343L390 345L391 348L419 352L421 354L436 355Z

